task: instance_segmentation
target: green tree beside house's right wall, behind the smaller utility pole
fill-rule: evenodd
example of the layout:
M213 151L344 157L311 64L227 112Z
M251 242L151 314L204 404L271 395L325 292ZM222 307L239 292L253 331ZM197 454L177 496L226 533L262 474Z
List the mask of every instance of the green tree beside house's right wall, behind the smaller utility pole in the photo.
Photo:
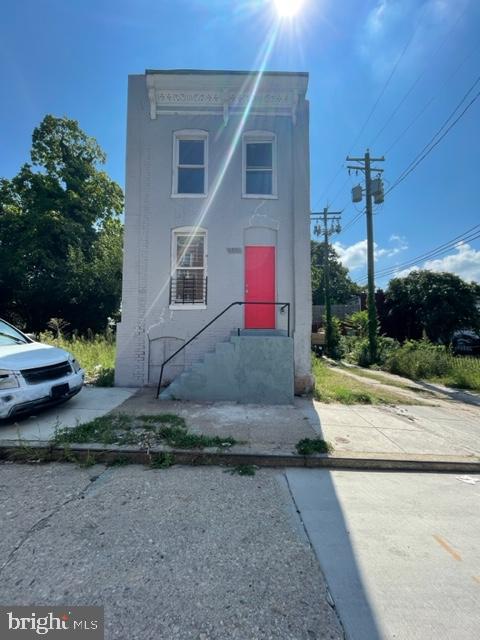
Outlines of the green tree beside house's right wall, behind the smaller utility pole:
M342 265L335 249L329 246L330 295L332 304L346 304L362 289L350 279L348 269ZM312 301L313 304L325 304L324 260L325 244L311 242L312 260Z

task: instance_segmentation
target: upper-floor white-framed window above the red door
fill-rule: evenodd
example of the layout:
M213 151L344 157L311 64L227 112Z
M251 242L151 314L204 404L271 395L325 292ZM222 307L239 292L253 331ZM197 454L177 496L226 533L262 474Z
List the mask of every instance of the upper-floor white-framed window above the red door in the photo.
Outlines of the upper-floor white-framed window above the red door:
M243 196L275 198L276 195L275 134L246 133L243 136Z

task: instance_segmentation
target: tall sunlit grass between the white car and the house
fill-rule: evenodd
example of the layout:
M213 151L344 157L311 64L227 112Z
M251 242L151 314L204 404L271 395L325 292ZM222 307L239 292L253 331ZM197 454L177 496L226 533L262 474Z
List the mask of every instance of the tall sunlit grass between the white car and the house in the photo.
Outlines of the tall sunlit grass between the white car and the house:
M72 336L55 337L51 331L40 333L40 342L60 347L73 353L85 369L86 382L97 387L113 386L115 367L115 338L111 335L94 335L89 338Z

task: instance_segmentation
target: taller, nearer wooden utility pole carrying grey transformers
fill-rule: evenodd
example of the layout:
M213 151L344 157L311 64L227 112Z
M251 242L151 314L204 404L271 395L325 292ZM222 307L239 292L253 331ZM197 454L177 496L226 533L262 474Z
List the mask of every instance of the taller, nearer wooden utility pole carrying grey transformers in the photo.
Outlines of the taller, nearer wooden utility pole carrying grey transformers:
M372 197L375 204L383 202L383 181L380 174L383 169L372 167L372 162L384 162L385 158L372 158L369 149L366 150L363 158L351 158L347 156L347 162L357 162L357 165L347 166L349 173L351 170L363 171L365 174L365 211L367 214L367 272L368 272L368 288L367 288L367 309L368 309L368 347L370 362L373 363L377 359L377 309L375 305L375 245L373 241L373 205ZM378 177L372 180L372 172L378 173ZM362 201L362 188L360 185L352 189L353 202Z

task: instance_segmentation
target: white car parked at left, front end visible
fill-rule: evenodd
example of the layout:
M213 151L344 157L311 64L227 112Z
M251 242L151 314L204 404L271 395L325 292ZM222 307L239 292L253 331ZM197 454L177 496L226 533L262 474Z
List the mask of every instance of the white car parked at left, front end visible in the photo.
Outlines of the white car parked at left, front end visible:
M0 420L65 402L84 378L71 353L36 342L0 319Z

